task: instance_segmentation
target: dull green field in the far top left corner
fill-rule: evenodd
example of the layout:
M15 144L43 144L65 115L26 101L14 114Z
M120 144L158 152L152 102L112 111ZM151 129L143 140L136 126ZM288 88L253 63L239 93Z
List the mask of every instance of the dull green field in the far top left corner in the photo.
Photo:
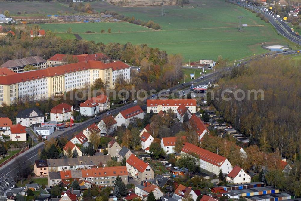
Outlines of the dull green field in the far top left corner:
M0 2L0 13L8 10L11 15L17 15L18 12L26 11L27 14L60 14L77 13L68 4L58 2Z

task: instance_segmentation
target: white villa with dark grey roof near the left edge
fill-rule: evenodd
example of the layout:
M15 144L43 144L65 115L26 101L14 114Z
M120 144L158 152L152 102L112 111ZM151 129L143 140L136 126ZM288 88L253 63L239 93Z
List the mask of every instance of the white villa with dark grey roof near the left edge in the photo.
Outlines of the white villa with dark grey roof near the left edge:
M27 108L18 112L17 124L20 123L25 127L30 127L32 124L44 122L46 116L37 108Z

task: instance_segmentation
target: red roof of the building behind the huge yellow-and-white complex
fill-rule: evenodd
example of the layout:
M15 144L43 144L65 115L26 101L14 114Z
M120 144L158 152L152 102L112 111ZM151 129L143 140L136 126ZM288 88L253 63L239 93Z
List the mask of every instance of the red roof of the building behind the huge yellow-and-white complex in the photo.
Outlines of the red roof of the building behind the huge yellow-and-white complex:
M49 61L60 61L63 62L66 58L66 54L55 54ZM102 53L95 53L95 54L81 54L81 55L72 55L73 58L76 57L79 62L81 61L99 61L99 60L108 60L110 59L107 55Z

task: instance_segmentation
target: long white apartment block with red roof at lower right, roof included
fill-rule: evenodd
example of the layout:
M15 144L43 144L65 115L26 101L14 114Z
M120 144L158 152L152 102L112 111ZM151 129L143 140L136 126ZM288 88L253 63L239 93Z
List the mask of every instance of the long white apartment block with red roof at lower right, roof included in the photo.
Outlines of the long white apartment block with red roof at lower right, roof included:
M198 156L200 159L200 168L219 175L221 169L223 174L229 174L232 165L224 156L217 155L196 145L186 143L181 150L181 156Z

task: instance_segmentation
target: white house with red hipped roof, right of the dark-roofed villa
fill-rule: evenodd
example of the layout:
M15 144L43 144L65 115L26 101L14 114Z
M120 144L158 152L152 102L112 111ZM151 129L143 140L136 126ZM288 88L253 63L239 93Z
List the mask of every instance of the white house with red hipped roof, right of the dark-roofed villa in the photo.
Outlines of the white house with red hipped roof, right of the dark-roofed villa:
M54 106L50 111L50 121L67 122L72 117L73 106L61 103Z

